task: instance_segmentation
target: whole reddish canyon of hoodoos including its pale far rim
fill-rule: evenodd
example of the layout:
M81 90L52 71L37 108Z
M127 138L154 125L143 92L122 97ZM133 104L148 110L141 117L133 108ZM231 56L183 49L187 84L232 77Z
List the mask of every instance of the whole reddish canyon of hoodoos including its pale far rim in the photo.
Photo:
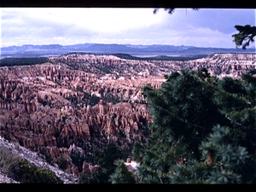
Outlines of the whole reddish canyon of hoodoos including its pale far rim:
M212 54L190 61L127 60L70 53L37 65L0 67L0 136L58 160L79 177L93 172L95 148L117 143L131 151L152 121L142 88L159 89L164 75L206 67L218 78L239 78L256 67L255 54ZM83 156L82 170L72 154ZM126 158L126 157L124 157Z

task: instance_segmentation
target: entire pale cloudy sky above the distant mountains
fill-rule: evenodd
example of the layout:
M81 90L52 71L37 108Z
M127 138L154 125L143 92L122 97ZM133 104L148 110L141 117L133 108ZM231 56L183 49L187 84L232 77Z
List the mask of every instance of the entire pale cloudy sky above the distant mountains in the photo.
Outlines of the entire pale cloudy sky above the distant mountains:
M256 9L0 8L0 47L23 44L168 44L236 48L236 25ZM252 44L250 48L255 47Z

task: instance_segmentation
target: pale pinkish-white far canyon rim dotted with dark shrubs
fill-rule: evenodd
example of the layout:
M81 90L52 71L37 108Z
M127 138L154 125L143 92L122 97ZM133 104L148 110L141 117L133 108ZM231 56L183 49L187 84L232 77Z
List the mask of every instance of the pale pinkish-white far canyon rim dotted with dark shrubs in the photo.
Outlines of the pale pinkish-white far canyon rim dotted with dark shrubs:
M256 55L217 53L191 61L138 61L120 59L113 55L75 53L51 57L50 60L53 63L82 69L84 72L97 73L102 79L161 76L179 71L182 68L196 70L200 67L207 67L212 74L219 77L227 75L240 77L241 73L255 68ZM104 76L106 74L109 76Z

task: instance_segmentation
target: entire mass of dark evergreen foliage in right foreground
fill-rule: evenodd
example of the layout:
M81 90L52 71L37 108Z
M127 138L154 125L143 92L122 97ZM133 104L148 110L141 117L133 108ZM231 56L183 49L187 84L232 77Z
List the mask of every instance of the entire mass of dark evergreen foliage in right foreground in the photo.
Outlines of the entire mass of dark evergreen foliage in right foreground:
M135 143L141 183L256 183L256 78L217 79L207 69L143 88L154 121Z

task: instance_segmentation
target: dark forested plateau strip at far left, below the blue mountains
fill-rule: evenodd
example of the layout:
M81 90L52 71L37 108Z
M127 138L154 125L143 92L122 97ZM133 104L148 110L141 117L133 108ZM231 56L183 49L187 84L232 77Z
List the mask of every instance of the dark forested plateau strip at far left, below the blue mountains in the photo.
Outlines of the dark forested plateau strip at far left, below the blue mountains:
M0 67L3 66L31 66L49 62L47 57L22 57L22 58L3 58L0 60Z

